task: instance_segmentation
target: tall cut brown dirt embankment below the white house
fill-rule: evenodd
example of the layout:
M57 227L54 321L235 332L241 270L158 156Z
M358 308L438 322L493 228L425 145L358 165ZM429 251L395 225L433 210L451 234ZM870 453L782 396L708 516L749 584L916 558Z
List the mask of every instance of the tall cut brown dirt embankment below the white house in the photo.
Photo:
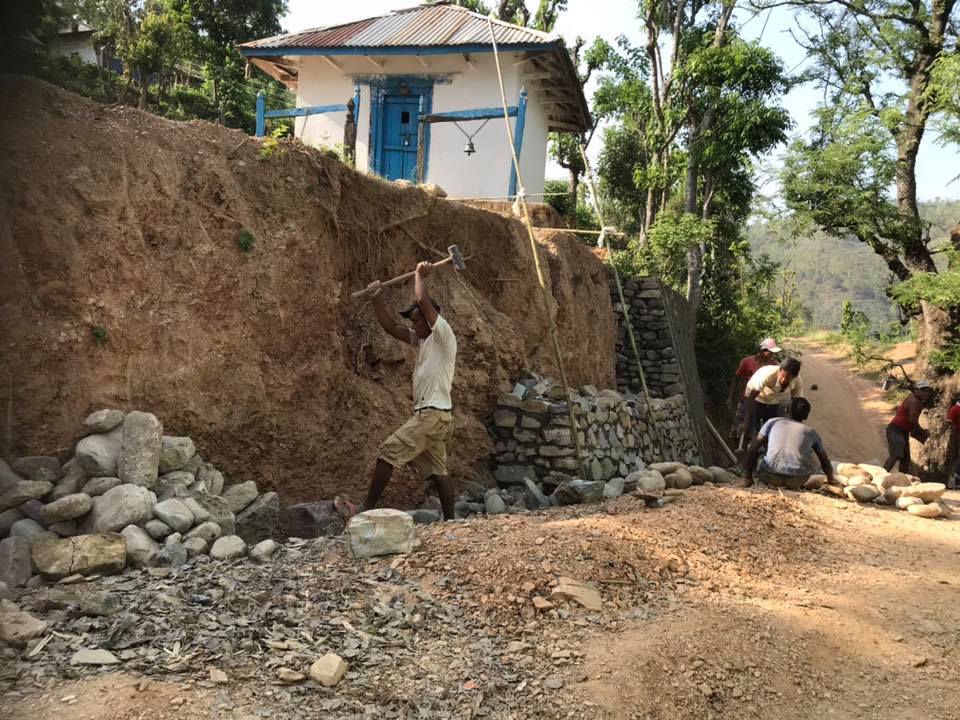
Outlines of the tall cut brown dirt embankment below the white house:
M354 495L410 407L414 355L350 291L439 258L460 346L452 471L486 472L485 421L527 367L553 370L515 220L359 175L336 159L0 77L4 455L62 452L89 411L154 412L231 481L285 502ZM253 247L240 249L248 229ZM611 386L603 267L563 233L541 248L572 383ZM409 287L387 302L409 302ZM93 331L100 334L98 340ZM398 478L388 501L420 499Z

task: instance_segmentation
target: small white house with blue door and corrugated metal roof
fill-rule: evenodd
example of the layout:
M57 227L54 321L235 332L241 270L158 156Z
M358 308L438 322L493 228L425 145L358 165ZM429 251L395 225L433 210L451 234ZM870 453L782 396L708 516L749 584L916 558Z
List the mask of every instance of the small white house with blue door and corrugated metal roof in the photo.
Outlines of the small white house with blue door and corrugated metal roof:
M497 20L493 32L524 190L532 196L543 192L547 134L588 130L590 112L562 40ZM341 145L344 105L353 99L358 170L434 182L451 197L517 192L483 15L419 5L239 50L296 93L298 110L287 114L303 142Z

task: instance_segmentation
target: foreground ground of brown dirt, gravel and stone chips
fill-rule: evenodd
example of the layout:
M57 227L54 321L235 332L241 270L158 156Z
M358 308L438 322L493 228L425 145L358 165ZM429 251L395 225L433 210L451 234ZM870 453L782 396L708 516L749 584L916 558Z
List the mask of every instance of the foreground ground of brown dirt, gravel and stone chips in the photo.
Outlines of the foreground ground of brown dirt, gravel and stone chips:
M960 706L956 520L705 485L660 509L623 497L418 537L406 556L351 561L323 540L266 565L26 591L16 602L56 634L5 651L0 702L17 720L947 720ZM592 583L602 609L551 601L558 576ZM84 615L58 592L120 610ZM80 647L119 662L72 666ZM279 680L326 652L349 663L335 687Z

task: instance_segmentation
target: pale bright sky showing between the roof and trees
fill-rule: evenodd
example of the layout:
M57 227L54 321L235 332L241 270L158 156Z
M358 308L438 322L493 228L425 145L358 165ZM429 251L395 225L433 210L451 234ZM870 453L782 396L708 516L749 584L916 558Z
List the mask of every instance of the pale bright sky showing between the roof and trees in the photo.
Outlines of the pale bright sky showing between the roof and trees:
M337 25L382 15L390 10L407 8L417 4L416 0L351 0L351 2L333 3L328 0L287 0L289 10L283 19L286 31ZM488 3L489 4L489 3ZM534 0L528 0L528 6L535 6ZM788 71L798 73L804 68L806 57L803 49L789 35L789 29L796 26L793 11L789 8L777 8L752 17L747 11L737 11L737 21L742 35L747 39L759 39L761 44L776 52ZM613 42L619 35L626 35L634 43L642 38L641 26L637 20L637 0L569 0L567 10L560 16L554 32L563 36L570 44L578 35L589 44L596 36ZM587 98L593 93L595 81L587 86ZM794 134L805 133L813 123L812 111L819 101L817 90L812 86L794 88L784 98L784 106L794 121ZM600 148L600 138L590 147L592 161ZM761 159L765 169L776 168L783 148ZM934 133L928 129L921 146L917 161L917 193L919 199L935 198L960 199L960 181L950 184L957 174L960 152L955 146L941 147L935 142ZM547 176L565 178L565 171L549 163ZM773 188L775 192L775 188ZM769 193L771 188L763 188Z

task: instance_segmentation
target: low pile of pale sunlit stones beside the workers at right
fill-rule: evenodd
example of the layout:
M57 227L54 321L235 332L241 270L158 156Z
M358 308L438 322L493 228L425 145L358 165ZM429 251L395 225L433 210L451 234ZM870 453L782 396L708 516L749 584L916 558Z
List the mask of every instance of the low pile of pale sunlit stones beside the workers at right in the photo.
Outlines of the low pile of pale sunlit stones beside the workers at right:
M917 517L950 516L950 506L941 500L947 491L943 483L920 482L913 475L866 463L835 463L833 478L828 484L825 475L814 475L805 488L858 503L890 505Z

